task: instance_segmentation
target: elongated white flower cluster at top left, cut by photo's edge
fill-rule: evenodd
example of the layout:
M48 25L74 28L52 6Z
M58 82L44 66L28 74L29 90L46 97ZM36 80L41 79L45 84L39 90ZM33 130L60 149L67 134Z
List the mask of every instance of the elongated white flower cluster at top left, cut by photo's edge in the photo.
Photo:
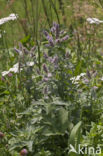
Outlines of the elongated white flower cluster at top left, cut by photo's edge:
M12 13L12 14L10 14L8 17L1 18L1 19L0 19L0 25L6 23L6 22L8 22L8 21L11 21L11 20L14 21L14 20L16 20L17 18L18 18L18 15Z

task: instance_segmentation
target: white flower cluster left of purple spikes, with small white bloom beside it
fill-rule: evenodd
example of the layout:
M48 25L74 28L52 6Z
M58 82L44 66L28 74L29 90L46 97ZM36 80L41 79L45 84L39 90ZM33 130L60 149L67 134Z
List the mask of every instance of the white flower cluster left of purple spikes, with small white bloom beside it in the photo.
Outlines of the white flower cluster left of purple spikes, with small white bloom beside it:
M34 62L27 62L26 63L26 66L28 67L31 67L34 65ZM23 65L24 67L25 65ZM8 71L3 71L1 73L1 75L4 77L6 75L8 75L9 73L13 72L13 73L19 73L19 71L22 71L23 70L23 67L22 68L19 68L19 63L16 63L15 65L13 65L12 68L10 68Z

